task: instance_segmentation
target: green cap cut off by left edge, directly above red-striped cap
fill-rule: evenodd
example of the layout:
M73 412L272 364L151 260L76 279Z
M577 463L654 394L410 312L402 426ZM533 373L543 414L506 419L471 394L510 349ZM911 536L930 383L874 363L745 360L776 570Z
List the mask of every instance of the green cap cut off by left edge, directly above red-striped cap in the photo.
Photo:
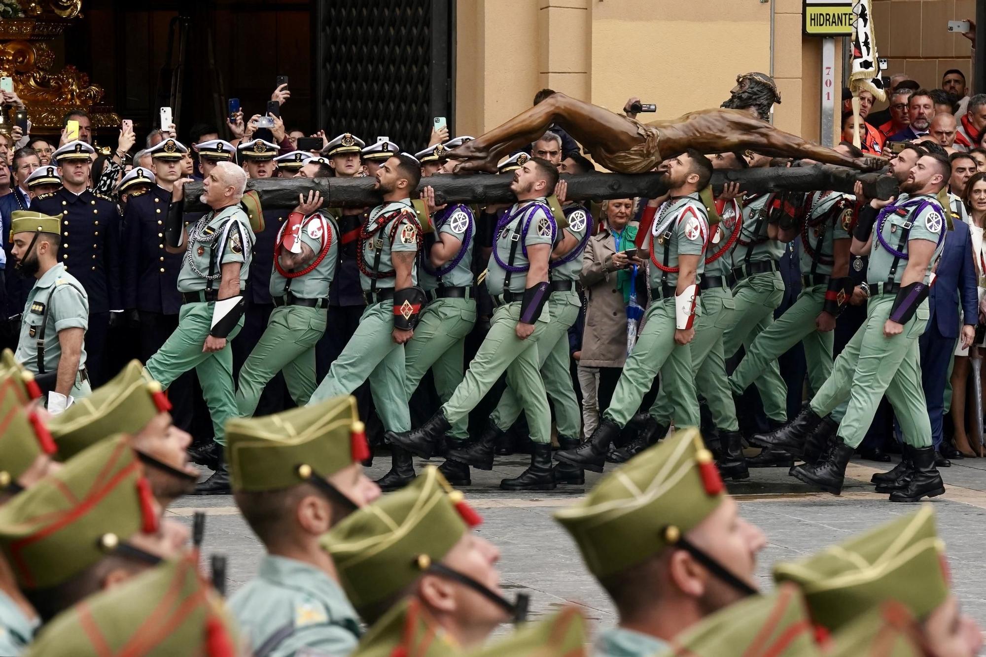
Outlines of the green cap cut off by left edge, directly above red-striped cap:
M54 454L55 444L31 401L25 395L17 372L0 374L0 489L16 492L21 475L41 454Z

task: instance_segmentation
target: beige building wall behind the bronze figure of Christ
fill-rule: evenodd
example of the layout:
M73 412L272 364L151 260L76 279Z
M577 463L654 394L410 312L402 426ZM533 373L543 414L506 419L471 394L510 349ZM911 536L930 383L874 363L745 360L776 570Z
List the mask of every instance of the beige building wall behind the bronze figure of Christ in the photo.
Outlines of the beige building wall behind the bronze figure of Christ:
M738 74L770 72L772 10L774 122L817 139L821 41L802 35L802 0L458 0L456 129L481 134L543 87L613 111L639 96L654 118L718 107Z

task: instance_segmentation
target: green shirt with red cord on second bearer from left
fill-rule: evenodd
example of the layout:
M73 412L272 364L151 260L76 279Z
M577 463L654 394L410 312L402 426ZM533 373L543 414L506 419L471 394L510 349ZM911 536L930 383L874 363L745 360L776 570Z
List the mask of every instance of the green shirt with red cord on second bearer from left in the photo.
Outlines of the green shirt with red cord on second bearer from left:
M277 234L276 244L278 245L284 239L285 226L281 226L281 231ZM332 285L332 278L335 277L335 263L339 257L339 229L331 215L316 212L305 218L299 237L302 244L307 245L315 255L308 262L295 267L298 271L303 271L311 266L322 255L321 252L326 245L328 249L312 271L295 278L286 278L281 275L275 263L270 272L270 296L283 297L290 287L291 294L301 299L327 298L328 289ZM288 267L285 267L283 263L280 264L285 271L290 272Z

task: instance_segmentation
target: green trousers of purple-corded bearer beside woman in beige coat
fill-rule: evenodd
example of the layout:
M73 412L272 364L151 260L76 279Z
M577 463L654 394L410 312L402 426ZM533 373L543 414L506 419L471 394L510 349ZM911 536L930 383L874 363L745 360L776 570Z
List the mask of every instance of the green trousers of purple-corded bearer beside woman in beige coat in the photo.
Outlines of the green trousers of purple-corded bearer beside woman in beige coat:
M558 435L578 438L582 435L582 413L572 387L571 354L568 348L568 329L579 319L582 304L575 292L555 292L551 295L551 324L537 339L537 363L548 399L554 404ZM504 390L491 419L506 431L521 416L521 401L510 386Z

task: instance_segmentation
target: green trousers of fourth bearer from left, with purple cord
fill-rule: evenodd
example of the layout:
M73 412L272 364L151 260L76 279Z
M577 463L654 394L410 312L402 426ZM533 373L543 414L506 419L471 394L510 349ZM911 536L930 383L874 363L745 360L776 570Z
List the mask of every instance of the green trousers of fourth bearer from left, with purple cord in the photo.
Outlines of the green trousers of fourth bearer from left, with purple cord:
M442 402L449 401L462 383L465 336L476 324L476 302L473 299L436 299L425 307L421 321L414 328L414 337L404 345L404 365L407 368L408 401L429 368L435 377L435 390ZM450 435L456 440L469 437L468 417L463 415L453 424Z

